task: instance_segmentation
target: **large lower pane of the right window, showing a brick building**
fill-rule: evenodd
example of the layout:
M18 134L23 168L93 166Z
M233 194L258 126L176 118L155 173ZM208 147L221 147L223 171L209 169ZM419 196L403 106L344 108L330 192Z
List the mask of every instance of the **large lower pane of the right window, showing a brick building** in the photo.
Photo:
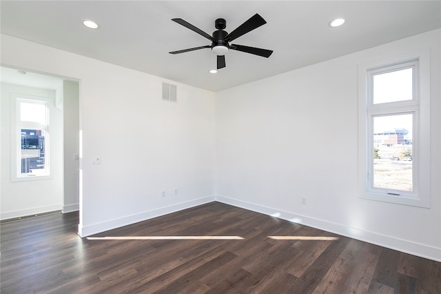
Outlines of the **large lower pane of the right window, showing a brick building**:
M413 114L373 117L373 187L413 190Z

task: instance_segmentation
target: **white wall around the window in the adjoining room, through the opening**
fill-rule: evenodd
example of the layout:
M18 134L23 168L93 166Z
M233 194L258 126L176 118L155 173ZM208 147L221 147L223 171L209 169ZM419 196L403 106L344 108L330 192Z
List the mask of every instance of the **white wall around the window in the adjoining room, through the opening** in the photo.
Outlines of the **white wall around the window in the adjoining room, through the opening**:
M1 207L0 219L60 210L63 201L63 111L50 113L52 179L11 182L11 94L56 98L56 91L1 84ZM57 139L59 138L59 139Z

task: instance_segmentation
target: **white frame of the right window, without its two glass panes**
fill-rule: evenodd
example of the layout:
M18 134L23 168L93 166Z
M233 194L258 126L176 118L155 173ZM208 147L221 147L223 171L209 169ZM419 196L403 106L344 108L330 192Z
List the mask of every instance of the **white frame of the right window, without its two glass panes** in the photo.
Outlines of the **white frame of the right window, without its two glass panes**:
M418 50L358 66L359 197L430 208L430 51ZM413 99L373 104L373 76L413 66ZM373 187L373 117L413 114L413 191ZM394 195L399 194L399 195Z

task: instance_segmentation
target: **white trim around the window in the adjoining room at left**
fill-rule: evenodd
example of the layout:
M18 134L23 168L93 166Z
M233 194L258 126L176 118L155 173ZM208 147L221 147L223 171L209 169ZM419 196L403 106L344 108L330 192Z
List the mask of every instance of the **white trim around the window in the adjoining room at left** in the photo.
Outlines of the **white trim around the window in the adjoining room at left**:
M19 159L19 141L21 141L21 132L19 132L17 126L17 121L19 119L19 101L23 100L30 100L30 101L39 101L41 104L47 104L48 106L48 120L50 119L50 113L53 113L54 110L54 99L48 98L48 97L38 97L33 95L23 95L23 94L17 94L17 93L11 93L10 95L10 106L11 106L11 112L10 112L10 119L11 119L11 182L25 182L25 181L36 181L36 180L42 180L42 179L53 179L53 175L51 173L52 170L52 164L51 164L51 144L50 144L50 121L48 121L47 125L42 125L41 128L45 128L47 130L47 133L45 133L45 152L48 154L46 159L46 164L48 168L48 173L45 173L44 175L34 175L32 177L30 176L21 176L19 175L19 167L21 166L21 160ZM22 123L21 126L25 126L26 123ZM38 123L30 123L32 126L36 126Z

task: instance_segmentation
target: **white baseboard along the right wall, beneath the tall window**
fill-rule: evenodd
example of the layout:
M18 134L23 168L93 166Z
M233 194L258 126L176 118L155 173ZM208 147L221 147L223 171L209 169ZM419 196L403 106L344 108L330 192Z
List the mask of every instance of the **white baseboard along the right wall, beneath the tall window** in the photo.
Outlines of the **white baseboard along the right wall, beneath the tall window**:
M441 262L441 248L428 246L416 242L411 242L409 240L399 239L396 237L390 237L379 233L364 231L361 230L360 228L352 228L350 226L328 222L325 221L324 219L316 219L314 217L307 217L305 215L297 215L295 213L289 213L287 211L278 210L267 206L252 204L249 202L244 202L242 200L233 199L222 195L216 195L216 201L229 204L232 206L237 206L240 208L245 208L247 210L252 210L257 213L263 213L265 215L270 215L272 217L285 219L289 222L295 222L298 224L303 224L305 226L311 226L313 228L318 228L320 230L327 231L330 233L336 233L338 235L343 235L345 237L358 239L360 241L376 244L386 248L391 248L396 251L401 251L404 253L409 253L412 255Z

